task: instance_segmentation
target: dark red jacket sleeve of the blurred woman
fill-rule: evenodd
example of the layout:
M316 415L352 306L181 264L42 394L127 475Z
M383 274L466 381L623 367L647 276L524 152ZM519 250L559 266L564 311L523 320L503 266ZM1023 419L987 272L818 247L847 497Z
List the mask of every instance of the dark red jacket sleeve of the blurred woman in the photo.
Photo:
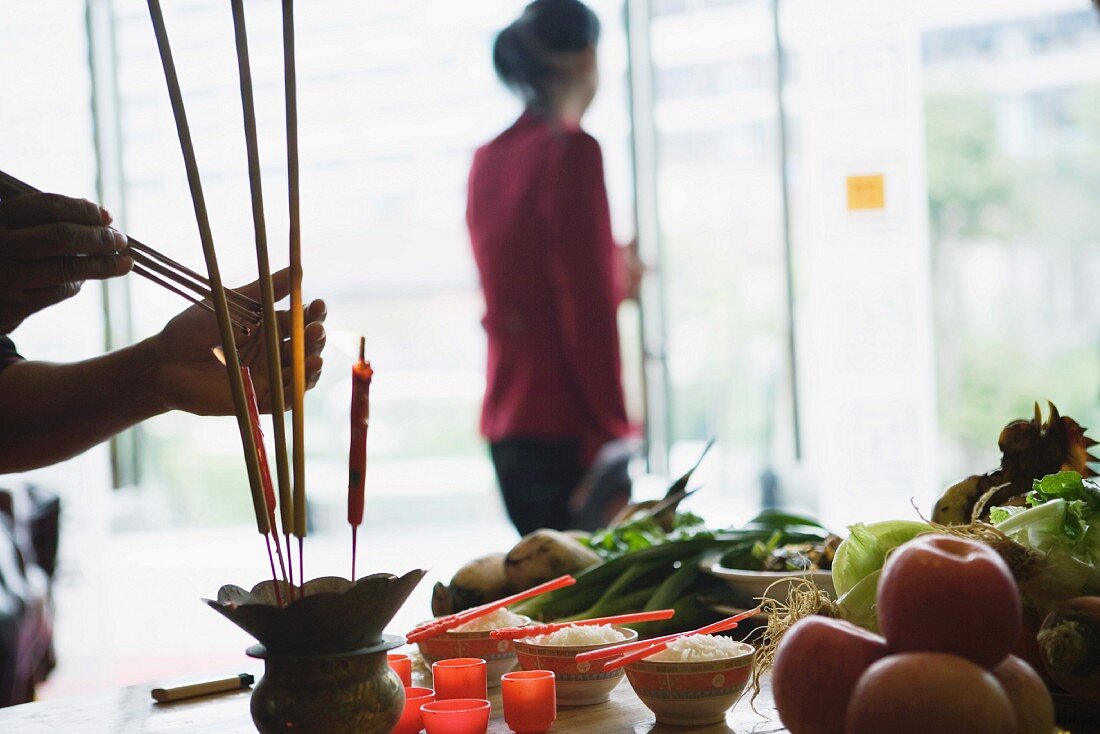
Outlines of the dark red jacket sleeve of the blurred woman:
M565 361L595 423L608 437L623 436L629 426L619 381L615 242L595 139L571 135L558 174L558 237L549 260Z

